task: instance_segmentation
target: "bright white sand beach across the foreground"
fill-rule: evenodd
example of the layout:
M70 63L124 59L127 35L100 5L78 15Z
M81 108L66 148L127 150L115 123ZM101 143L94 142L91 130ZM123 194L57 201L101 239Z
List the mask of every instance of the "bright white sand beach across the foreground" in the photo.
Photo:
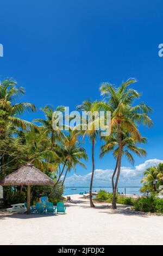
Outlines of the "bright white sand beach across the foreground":
M138 214L118 205L92 209L75 194L66 215L0 215L0 245L162 245L163 216Z

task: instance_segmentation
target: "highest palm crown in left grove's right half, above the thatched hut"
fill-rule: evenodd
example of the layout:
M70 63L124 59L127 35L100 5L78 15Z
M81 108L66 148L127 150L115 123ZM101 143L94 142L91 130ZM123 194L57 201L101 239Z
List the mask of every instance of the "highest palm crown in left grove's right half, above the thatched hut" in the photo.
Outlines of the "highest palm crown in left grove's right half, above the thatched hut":
M44 108L40 108L43 113L45 114L46 119L36 118L34 119L35 122L42 124L45 127L45 133L48 133L51 136L51 149L53 149L55 145L55 141L60 138L60 130L55 131L53 129L53 121L57 118L56 111L64 112L64 106L58 106L55 110L52 106L45 106Z

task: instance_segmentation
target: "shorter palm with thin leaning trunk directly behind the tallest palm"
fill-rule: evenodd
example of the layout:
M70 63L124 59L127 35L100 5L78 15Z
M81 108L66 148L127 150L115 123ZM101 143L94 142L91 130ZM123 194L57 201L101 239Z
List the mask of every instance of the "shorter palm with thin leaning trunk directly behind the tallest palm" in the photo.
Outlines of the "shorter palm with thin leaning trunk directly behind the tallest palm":
M131 153L136 154L137 156L146 156L146 151L145 149L142 149L140 147L136 146L136 141L134 138L132 138L129 133L122 132L122 156L126 156L128 161L131 164L134 164L134 157ZM101 147L101 157L103 157L106 153L110 153L110 151L113 151L113 155L116 159L116 166L114 173L112 174L111 182L112 182L112 191L114 192L114 177L117 171L117 166L118 166L118 136L117 133L114 135L110 135L109 137L103 137L102 138L105 142L104 145ZM141 143L146 143L146 138L141 137Z

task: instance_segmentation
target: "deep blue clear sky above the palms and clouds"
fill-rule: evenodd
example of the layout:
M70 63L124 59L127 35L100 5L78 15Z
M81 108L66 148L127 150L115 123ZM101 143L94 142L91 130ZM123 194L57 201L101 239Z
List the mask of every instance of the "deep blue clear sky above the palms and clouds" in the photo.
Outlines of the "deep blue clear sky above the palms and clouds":
M158 56L162 39L162 1L49 0L3 1L0 16L0 79L13 77L26 88L22 101L39 109L47 104L70 106L73 111L86 99L100 99L99 84L120 84L137 78L134 88L141 100L154 109L152 129L141 127L148 137L147 157L135 157L135 165L149 159L162 159L162 67ZM25 114L32 120L41 111ZM111 155L99 160L96 169L112 169ZM91 145L87 170L91 171ZM122 166L130 167L123 159ZM131 167L132 168L132 167Z

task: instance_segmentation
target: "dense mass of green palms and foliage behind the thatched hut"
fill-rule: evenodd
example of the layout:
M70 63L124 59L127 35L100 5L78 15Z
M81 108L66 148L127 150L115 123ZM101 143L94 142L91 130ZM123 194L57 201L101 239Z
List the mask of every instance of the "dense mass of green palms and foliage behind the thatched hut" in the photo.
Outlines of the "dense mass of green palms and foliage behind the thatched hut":
M18 87L11 79L0 84L0 178L31 162L57 181L54 187L32 187L32 202L43 193L51 200L61 199L67 172L76 170L77 164L86 168L82 163L82 159L87 159L85 149L78 141L77 132L62 133L53 129L55 111L62 112L63 106L55 111L52 106L41 108L45 119L34 119L32 122L21 119L21 114L36 111L32 103L17 103L18 96L24 94L24 88ZM60 182L62 175L64 179ZM26 187L4 187L4 203L22 202L26 197L24 192Z

